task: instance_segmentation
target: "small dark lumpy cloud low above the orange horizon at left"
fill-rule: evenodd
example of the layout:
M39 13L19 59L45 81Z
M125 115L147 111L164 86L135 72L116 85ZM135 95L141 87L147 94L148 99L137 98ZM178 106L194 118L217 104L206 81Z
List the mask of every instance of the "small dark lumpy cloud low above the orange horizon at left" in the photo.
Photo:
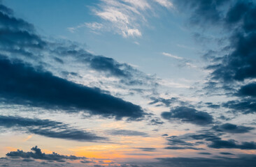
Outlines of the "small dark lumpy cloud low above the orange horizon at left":
M23 158L23 159L41 159L41 160L47 160L47 161L60 161L64 162L66 160L78 160L78 159L87 159L85 157L76 157L74 155L62 155L57 154L55 152L52 152L52 154L45 154L41 152L41 149L35 146L34 148L31 148L31 152L23 152L22 150L17 150L13 152L8 152L6 154L7 157L10 158Z

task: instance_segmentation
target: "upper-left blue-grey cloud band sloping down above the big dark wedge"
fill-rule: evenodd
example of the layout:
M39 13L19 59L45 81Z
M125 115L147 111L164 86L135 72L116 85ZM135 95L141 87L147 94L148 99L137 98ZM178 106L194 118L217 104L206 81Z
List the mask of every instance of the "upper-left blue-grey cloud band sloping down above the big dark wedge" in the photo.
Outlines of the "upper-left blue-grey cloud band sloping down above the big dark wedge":
M81 49L75 43L67 41L50 42L43 39L36 33L32 24L29 24L24 19L15 17L13 11L3 6L1 2L0 25L0 49L2 51L9 51L12 58L25 56L25 58L34 58L38 61L38 59L44 58L43 55L40 55L44 51L52 54L51 58L53 61L64 64L66 63L64 57L70 56L75 58L76 61L85 63L87 67L97 72L104 72L108 76L121 77L122 82L125 84L141 84L144 82L143 79L135 79L136 75L141 75L142 72L139 72L127 63L118 63L113 58L105 56L95 56L85 51L85 49ZM67 43L69 44L67 45ZM145 78L147 77L144 75Z

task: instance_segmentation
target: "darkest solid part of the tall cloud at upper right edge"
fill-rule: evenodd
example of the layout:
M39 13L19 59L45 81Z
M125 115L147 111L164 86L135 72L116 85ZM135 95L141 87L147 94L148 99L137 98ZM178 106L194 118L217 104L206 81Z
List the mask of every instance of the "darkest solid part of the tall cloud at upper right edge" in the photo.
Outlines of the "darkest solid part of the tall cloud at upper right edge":
M229 54L222 56L219 63L209 66L212 79L233 82L244 81L256 77L255 41L256 41L256 6L252 1L237 1L229 8L225 18L225 26L232 27L229 38Z

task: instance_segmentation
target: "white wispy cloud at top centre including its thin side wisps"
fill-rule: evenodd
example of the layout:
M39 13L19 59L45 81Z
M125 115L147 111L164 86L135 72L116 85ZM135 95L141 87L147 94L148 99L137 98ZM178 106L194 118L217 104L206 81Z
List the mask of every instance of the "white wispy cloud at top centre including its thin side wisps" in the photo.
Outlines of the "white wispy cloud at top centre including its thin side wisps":
M98 23L101 26L94 22L87 23L87 27L96 31L104 26L101 31L112 31L125 38L141 37L142 26L148 23L146 18L152 17L155 5L164 8L173 6L168 0L101 0L97 7L92 8L94 15L102 19ZM74 29L69 28L69 31Z

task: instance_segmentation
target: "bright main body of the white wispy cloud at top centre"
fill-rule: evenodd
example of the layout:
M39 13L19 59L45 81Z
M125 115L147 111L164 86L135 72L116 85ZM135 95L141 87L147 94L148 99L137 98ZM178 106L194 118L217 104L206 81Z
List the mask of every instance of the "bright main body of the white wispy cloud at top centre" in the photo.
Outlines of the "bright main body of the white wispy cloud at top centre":
M141 31L137 23L137 17L141 16L141 10L150 8L147 1L101 1L94 14L101 17L110 29L123 37L140 37Z

